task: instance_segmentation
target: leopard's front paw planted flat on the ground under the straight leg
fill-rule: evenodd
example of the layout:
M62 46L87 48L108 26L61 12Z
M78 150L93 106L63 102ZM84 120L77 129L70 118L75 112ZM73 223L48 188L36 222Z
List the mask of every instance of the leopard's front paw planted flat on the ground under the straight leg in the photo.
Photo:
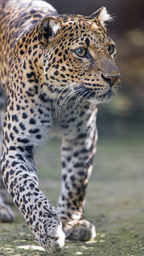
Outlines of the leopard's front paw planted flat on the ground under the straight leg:
M88 220L70 220L62 229L66 239L88 241L96 236L95 226Z

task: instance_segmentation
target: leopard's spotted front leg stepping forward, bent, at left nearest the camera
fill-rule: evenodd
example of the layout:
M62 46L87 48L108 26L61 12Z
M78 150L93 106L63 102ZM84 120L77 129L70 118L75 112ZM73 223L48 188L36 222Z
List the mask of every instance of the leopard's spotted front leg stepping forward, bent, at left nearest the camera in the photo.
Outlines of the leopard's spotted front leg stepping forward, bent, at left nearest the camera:
M44 131L43 127L42 132L38 128L40 121L35 121L34 114L28 117L27 113L23 113L22 116L24 119L21 118L21 122L18 122L20 115L17 116L16 112L15 115L10 115L9 112L5 114L7 122L4 122L4 149L1 158L3 180L36 241L48 252L55 252L63 247L65 235L55 207L38 188L33 161L34 146L40 143ZM45 125L48 130L50 120Z

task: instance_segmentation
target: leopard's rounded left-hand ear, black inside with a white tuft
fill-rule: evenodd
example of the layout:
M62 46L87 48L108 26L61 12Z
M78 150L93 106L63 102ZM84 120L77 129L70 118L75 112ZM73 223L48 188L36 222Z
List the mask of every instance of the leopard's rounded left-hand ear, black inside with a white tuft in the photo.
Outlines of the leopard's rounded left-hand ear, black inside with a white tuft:
M60 21L54 17L47 17L41 21L39 26L38 39L44 46L47 45L48 40L53 38L61 28Z

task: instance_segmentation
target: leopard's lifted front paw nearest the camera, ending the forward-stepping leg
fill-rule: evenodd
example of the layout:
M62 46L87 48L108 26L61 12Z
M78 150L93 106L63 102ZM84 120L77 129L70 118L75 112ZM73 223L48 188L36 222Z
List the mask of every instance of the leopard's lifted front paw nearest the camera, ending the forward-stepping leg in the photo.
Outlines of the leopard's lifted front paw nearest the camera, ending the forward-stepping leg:
M55 207L45 198L45 200L37 200L35 205L29 205L29 208L31 214L26 212L25 218L36 242L47 252L59 251L64 246L65 234Z

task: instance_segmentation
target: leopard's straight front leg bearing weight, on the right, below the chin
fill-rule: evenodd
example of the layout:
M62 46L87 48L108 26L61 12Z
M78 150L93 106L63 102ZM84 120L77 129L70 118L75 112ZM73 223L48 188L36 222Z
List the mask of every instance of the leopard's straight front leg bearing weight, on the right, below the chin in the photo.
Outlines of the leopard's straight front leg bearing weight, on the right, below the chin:
M96 151L96 113L93 105L85 110L76 109L67 122L69 133L62 140L62 182L57 211L68 239L89 240L96 236L94 225L84 220L83 212Z

